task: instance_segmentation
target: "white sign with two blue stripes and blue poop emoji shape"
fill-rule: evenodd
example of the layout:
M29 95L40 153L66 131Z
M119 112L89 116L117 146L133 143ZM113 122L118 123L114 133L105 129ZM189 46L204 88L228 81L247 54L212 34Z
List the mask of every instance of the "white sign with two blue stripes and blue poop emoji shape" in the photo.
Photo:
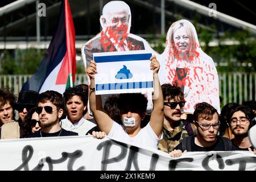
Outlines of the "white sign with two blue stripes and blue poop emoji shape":
M145 50L93 53L96 94L153 92L151 56Z

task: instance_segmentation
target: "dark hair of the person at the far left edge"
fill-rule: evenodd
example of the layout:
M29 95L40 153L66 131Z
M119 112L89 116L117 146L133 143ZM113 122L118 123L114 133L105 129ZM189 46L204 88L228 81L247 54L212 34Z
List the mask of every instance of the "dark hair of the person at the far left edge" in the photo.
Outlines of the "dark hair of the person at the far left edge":
M14 106L16 104L16 96L14 96L14 94L7 88L0 89L0 107L6 105L8 101L14 110Z

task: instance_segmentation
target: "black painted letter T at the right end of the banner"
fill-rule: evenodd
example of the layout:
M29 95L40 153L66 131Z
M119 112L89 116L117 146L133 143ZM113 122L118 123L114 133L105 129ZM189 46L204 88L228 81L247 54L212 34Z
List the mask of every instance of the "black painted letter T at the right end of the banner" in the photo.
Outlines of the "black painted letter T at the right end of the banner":
M233 164L239 164L238 171L245 171L246 163L255 163L256 164L256 157L227 159L227 160L225 160L225 163L228 166L232 166Z

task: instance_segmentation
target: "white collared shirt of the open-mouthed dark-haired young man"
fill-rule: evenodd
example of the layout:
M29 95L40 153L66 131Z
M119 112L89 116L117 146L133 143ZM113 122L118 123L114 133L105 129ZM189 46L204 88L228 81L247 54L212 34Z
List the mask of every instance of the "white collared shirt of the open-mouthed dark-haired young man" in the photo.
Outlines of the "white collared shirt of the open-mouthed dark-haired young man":
M80 136L84 136L90 129L96 126L93 122L88 121L85 118L81 118L79 122L73 124L68 120L68 117L60 121L60 126L68 131L78 133Z

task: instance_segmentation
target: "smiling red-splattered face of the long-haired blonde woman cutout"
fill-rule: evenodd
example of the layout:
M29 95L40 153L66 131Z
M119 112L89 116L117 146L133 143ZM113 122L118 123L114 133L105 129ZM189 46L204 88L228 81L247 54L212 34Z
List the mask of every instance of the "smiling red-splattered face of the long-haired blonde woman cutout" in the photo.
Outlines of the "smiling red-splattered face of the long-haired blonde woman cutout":
M181 51L180 53L188 53L190 41L184 27L180 27L174 32L173 39L178 52Z

